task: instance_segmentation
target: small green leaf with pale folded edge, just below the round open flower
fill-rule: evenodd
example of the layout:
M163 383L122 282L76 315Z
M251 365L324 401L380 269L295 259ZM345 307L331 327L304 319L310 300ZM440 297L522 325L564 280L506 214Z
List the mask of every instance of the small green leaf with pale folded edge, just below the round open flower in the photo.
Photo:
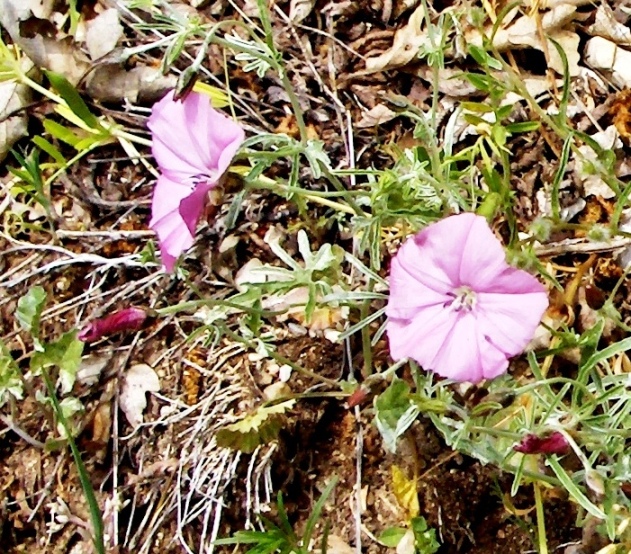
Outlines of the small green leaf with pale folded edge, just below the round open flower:
M397 440L419 414L410 399L410 387L401 379L393 379L390 386L375 398L375 425L390 452L397 449Z

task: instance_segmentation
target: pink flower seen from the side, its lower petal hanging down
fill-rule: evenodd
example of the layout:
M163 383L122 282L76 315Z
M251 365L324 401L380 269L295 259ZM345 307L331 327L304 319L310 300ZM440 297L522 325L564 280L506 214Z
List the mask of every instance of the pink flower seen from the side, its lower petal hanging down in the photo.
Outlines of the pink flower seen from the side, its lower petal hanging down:
M153 106L147 126L161 172L149 225L158 235L162 263L171 271L192 246L208 191L217 186L245 134L197 92L182 101L168 93Z

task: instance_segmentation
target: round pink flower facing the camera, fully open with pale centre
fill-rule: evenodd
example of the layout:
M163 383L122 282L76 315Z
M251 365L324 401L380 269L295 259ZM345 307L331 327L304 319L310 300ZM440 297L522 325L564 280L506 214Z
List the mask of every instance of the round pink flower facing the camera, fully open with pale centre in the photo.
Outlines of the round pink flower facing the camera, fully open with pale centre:
M483 217L451 216L408 239L392 260L390 352L456 381L491 379L522 352L547 306L544 286L506 263Z

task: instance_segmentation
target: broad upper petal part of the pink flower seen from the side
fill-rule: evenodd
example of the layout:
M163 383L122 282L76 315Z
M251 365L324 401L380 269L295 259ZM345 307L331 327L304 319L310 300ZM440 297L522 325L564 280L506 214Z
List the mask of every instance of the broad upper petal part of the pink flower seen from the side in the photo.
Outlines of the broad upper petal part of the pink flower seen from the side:
M147 126L153 156L161 171L176 181L202 175L219 179L245 136L237 123L197 92L182 101L168 93L154 105Z

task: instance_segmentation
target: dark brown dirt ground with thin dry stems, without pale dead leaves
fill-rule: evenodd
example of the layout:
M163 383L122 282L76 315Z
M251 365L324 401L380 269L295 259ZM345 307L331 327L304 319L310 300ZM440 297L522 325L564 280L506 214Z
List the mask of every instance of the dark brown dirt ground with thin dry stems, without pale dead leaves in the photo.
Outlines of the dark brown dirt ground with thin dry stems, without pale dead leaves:
M89 11L98 2L83 4L84 11ZM247 9L246 4L237 2L237 7ZM274 25L278 48L305 109L309 132L324 141L334 167L346 164L347 118L355 123L365 121L367 112L380 104L391 106L397 97L405 97L419 109L428 106L432 90L424 63L366 71L367 58L391 48L396 30L409 20L412 4L417 3L318 1L303 24L288 25L281 12L288 13L289 2L277 3ZM438 14L457 3L432 4ZM215 21L239 17L237 7L218 1L199 13ZM595 8L579 9L586 26ZM130 44L148 40L129 28L126 33ZM195 46L187 47L191 55ZM207 71L223 76L223 59L220 49L212 46L205 63ZM519 51L513 58L521 70L539 76L545 73L545 67L540 67L542 60L539 51ZM238 106L250 130L297 136L296 122L276 77L260 78L231 64L229 83L242 104L250 106L249 112ZM576 94L583 93L583 86L577 87ZM614 94L599 88L590 94L594 106L590 117L601 123L611 119L607 109ZM458 98L466 98L466 94ZM145 107L150 105L145 102ZM144 115L125 113L120 104L99 106L118 122L145 133ZM45 112L48 108L37 109ZM29 132L37 135L42 126L32 119ZM587 128L590 122L585 118L577 125ZM412 128L410 121L399 117L378 125L356 126L355 164L388 167L391 157L384 145L418 142ZM553 171L544 167L546 158L553 157L562 146L553 136L539 137L534 143L523 138L512 140L513 169L519 175L513 185L520 221L529 222L536 216L537 179ZM148 149L145 153L148 155ZM290 169L289 163L279 163L269 176L274 177L273 172L286 176ZM4 169L0 171L6 183L9 175ZM234 198L239 186L238 178L230 176L225 184L228 200ZM317 183L313 186L318 187ZM152 178L141 165L130 162L119 147L100 148L73 165L51 190L62 214L59 240L66 254L119 258L141 251L149 238L151 193ZM574 189L568 188L563 192L562 206L571 207L576 196ZM158 309L198 297L222 298L232 291L230 284L247 260L256 256L274 262L273 253L263 242L270 227L291 229L301 217L291 202L258 191L244 201L234 229L227 233L213 222L226 215L229 205L226 201L207 214L207 224L194 247L195 256L187 260L189 283L170 279L154 268L133 265L99 267L86 260L55 266L60 253L47 247L50 237L36 225L16 227L10 239L3 233L0 273L7 277L0 292L0 336L25 374L33 343L19 332L14 314L18 298L31 287L40 285L48 293L49 303L42 317L44 337L60 336L79 322L128 305ZM606 221L611 211L610 202L592 197L580 217ZM318 224L323 214L320 209L309 208L314 240L318 244L350 244L352 237L346 236L336 221ZM36 221L38 216L32 217ZM126 234L109 232L113 227ZM226 252L221 245L228 234L238 238L238 245ZM570 235L568 231L555 238ZM574 266L587 258L571 254L556 261L560 266ZM610 290L621 275L620 268L609 254L601 258L597 284ZM383 276L387 266L385 256ZM45 271L38 271L44 267ZM625 290L623 287L621 293ZM236 320L226 316L230 323ZM279 354L313 373L337 380L346 378L349 368L357 371L361 367L358 344L352 344L349 356L342 345L321 336L296 336L287 322L265 325L274 335ZM274 519L277 491L282 491L290 521L300 530L333 477L339 481L317 529L321 533L322 523L328 522L331 535L343 546L329 552L352 552L348 545L357 544L358 527L362 552L392 551L380 546L374 537L406 521L392 491L393 465L408 475L417 472L420 476L420 514L436 530L440 554L536 551L532 490L522 487L511 497L510 475L454 452L423 415L405 435L397 454L388 453L372 421L372 398L379 390L372 390L359 407L349 408L345 396L327 396L339 391L294 373L287 383L290 390L312 392L313 398L302 400L285 414L277 441L250 454L217 446L215 432L261 402L278 373L278 363L257 358L226 337L217 344L203 336L189 339L199 326L193 311L179 313L156 319L139 333L100 341L84 351L82 368L99 369L96 381L80 379L73 389L85 408L77 442L103 513L106 535L117 545L109 552L180 553L185 552L183 543L191 552L205 551L201 545L207 544L209 536L218 533L225 537L243 529L256 521L257 511ZM377 348L375 358L376 367L387 367L384 345ZM120 412L119 403L122 375L135 364L156 369L160 391L148 396L146 423L134 430ZM54 416L50 408L36 402L35 392L29 390L24 400L3 408L0 553L91 552L89 510L76 467L66 445L51 442L56 437ZM604 546L593 530L577 524L580 514L576 505L559 490L545 490L543 500L549 552L588 554Z

